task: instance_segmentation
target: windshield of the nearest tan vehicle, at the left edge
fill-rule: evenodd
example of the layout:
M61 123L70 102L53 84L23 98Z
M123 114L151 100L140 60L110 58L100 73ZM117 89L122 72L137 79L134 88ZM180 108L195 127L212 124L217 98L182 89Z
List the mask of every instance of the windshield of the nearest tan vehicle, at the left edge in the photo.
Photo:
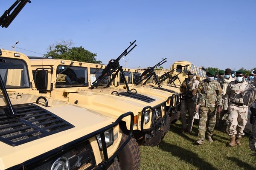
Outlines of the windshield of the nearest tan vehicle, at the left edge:
M0 58L6 61L0 62L0 74L6 89L30 88L26 62L21 59Z

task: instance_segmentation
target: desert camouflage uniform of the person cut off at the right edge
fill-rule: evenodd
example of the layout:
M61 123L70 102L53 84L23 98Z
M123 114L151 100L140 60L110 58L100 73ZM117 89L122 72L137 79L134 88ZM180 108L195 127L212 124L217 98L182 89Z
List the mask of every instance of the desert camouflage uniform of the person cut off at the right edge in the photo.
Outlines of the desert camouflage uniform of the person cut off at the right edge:
M256 77L254 77L244 89L243 101L245 105L253 105L253 107L256 108ZM252 131L249 137L249 147L256 152L256 122L253 124Z

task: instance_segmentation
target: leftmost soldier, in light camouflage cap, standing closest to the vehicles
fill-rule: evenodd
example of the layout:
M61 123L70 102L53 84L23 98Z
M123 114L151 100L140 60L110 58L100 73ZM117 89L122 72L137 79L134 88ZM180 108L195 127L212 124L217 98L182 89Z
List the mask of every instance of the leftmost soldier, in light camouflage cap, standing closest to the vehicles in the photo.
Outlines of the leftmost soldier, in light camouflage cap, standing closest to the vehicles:
M180 105L180 120L181 133L192 131L195 113L195 94L198 88L199 81L195 79L195 69L189 68L187 71L188 78L186 78L180 86L182 92ZM186 113L189 113L188 126L186 125Z

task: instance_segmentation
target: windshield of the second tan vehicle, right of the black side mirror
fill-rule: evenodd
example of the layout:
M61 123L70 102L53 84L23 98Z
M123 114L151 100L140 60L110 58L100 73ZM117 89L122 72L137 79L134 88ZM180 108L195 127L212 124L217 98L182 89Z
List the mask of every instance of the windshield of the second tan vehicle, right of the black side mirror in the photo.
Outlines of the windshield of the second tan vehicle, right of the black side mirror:
M87 68L58 65L56 88L88 86Z

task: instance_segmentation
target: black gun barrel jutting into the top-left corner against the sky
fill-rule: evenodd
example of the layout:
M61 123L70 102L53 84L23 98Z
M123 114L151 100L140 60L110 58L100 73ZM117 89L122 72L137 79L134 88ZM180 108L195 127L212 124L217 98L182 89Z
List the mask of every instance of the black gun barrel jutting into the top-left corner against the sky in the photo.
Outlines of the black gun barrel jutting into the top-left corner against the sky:
M26 3L31 3L30 0L16 0L16 2L9 8L7 9L3 15L0 17L0 26L7 28L10 23L15 19L17 14L21 11L21 9L26 5ZM15 6L17 6L15 8ZM13 10L13 8L15 8ZM13 11L12 11L13 10ZM10 14L10 12L12 13Z

